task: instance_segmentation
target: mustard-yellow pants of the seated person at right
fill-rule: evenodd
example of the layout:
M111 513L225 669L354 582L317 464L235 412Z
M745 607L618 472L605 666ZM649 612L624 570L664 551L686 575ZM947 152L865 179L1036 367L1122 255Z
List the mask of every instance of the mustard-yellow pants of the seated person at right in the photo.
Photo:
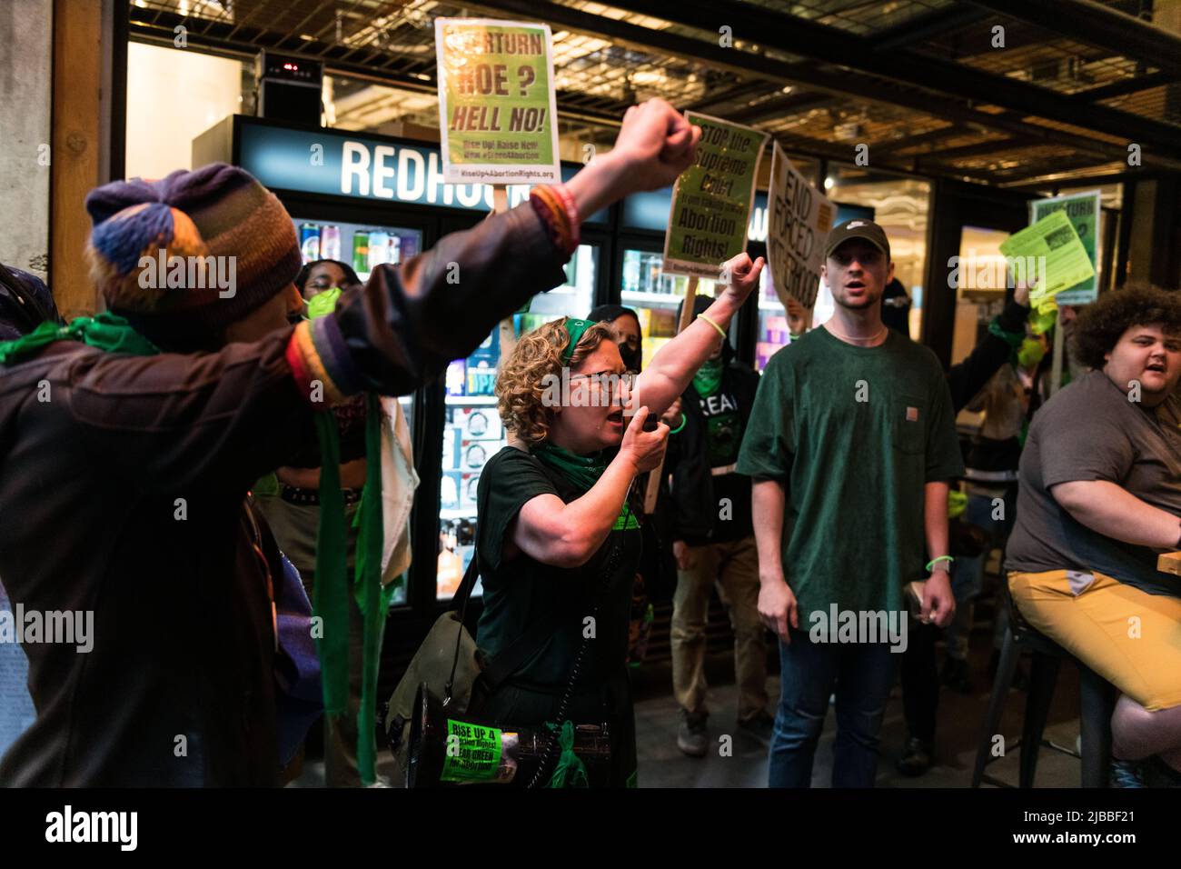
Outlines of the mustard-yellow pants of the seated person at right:
M1181 706L1181 598L1105 573L1009 573L1022 616L1146 709Z

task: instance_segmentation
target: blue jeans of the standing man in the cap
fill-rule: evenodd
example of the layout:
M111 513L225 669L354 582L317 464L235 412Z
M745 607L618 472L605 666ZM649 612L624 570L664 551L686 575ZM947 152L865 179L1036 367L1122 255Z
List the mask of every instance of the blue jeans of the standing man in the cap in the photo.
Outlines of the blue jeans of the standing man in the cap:
M781 695L771 733L769 785L808 787L824 727L828 699L836 690L834 787L873 787L877 737L900 654L888 643L813 643L792 630L779 643Z

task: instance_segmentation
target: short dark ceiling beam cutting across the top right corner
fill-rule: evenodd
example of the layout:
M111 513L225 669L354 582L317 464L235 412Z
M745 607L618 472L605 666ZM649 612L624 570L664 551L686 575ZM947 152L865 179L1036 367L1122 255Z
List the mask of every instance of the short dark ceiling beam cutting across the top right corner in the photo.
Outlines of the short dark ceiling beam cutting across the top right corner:
M1181 38L1094 0L972 0L1018 21L1181 74Z

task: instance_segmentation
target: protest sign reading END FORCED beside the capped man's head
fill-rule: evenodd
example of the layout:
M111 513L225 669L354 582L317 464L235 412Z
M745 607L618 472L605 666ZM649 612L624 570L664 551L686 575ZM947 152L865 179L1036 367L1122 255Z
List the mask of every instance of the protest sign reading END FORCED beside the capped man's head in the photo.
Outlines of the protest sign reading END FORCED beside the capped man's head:
M768 199L766 260L775 293L784 307L792 298L811 310L836 206L791 166L778 142L771 149Z

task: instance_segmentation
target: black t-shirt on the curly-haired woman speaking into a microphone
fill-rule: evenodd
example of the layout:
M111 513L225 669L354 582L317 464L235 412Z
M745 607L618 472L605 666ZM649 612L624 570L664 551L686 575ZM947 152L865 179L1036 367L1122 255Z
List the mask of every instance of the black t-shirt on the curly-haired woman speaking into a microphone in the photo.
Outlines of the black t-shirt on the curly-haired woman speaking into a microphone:
M496 655L539 620L555 610L565 612L562 627L553 638L513 675L517 681L561 689L582 643L583 620L593 610L595 595L601 595L595 638L580 681L582 686L603 681L622 669L627 661L632 583L641 550L638 520L642 510L635 508L633 502L628 527L612 531L581 568L553 568L524 552L503 562L509 526L521 507L541 494L555 494L566 504L580 497L559 473L516 447L504 447L479 475L476 557L484 588L484 611L476 630L476 644L485 654ZM616 528L619 526L616 523ZM621 550L609 578L605 578L614 546Z

